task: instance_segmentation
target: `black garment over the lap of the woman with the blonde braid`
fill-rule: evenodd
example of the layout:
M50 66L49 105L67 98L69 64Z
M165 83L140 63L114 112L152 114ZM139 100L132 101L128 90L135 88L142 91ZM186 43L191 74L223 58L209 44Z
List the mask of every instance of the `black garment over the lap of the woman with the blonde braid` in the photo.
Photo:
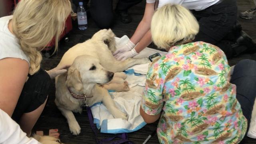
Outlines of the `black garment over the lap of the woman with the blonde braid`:
M42 69L29 76L12 114L12 119L19 122L22 114L32 112L41 106L48 96L50 84L50 76Z

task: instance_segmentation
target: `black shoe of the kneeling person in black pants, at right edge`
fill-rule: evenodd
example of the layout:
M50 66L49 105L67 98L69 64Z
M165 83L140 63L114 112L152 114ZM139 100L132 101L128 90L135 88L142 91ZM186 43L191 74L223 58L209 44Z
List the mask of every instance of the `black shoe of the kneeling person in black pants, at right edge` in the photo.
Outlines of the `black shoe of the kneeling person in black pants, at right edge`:
M240 36L236 39L236 43L238 45L246 46L247 47L246 53L250 53L250 54L256 53L256 43L244 31L240 32Z

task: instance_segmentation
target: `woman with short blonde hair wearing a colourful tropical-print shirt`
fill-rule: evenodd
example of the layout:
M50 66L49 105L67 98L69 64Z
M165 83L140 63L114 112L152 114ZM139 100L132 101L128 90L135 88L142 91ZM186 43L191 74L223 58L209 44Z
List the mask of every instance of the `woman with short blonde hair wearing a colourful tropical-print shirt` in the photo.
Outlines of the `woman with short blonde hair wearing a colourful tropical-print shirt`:
M198 30L183 6L167 4L156 11L152 40L168 54L150 65L140 114L147 123L160 118L161 144L239 143L256 96L256 62L238 62L230 80L224 52L192 42Z

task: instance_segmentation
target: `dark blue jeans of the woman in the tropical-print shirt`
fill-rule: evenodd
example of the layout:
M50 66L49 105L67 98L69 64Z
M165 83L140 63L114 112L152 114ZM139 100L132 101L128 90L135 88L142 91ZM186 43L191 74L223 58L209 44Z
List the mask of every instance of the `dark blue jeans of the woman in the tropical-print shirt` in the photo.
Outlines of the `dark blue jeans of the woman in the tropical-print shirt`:
M236 85L236 99L248 120L248 128L252 117L252 108L256 97L256 61L241 60L234 67L230 83Z

